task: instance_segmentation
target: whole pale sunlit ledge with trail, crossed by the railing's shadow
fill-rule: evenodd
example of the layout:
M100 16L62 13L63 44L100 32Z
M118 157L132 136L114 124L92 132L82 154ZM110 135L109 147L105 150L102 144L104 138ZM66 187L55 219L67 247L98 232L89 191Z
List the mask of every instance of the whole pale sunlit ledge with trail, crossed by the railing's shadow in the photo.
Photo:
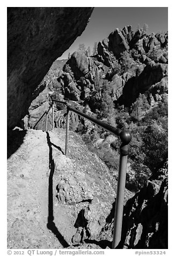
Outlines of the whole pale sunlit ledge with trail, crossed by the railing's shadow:
M69 158L64 129L28 130L19 146L21 134L8 136L8 248L101 248L92 241L115 201L108 168L74 132Z

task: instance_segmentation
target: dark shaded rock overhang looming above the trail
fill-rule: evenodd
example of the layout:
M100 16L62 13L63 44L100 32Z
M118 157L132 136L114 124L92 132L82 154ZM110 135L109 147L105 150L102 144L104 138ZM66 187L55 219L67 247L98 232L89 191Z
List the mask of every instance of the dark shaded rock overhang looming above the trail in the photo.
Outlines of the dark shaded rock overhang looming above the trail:
M8 8L8 129L27 114L53 61L82 34L93 8Z

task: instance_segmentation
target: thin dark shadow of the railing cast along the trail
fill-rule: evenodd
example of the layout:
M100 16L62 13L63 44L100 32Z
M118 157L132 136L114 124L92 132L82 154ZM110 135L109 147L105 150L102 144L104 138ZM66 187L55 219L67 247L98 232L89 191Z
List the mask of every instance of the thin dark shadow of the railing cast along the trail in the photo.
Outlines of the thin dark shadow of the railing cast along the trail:
M53 175L54 175L54 171L55 171L55 163L54 163L54 160L52 157L52 146L55 146L61 152L62 152L62 150L60 147L57 147L56 145L52 144L50 141L49 133L46 132L46 134L47 134L47 144L49 147L49 169L50 169L49 186L48 186L48 223L47 223L47 228L55 234L56 238L60 241L61 245L64 248L67 248L69 246L69 244L67 243L67 241L65 241L64 237L62 236L62 234L59 232L59 230L55 226L54 210L53 210Z

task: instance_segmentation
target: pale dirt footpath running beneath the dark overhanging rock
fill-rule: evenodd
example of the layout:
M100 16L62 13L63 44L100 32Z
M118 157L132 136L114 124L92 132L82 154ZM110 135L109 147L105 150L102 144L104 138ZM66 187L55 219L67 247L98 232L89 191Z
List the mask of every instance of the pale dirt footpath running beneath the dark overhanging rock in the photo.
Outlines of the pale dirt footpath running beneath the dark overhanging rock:
M64 151L64 136L65 132L58 137L57 133L28 130L24 143L8 159L8 248L69 245L76 229L72 216L52 195L56 184L49 170L49 158ZM69 229L68 238L68 232L59 231L60 226L62 232L65 226Z

